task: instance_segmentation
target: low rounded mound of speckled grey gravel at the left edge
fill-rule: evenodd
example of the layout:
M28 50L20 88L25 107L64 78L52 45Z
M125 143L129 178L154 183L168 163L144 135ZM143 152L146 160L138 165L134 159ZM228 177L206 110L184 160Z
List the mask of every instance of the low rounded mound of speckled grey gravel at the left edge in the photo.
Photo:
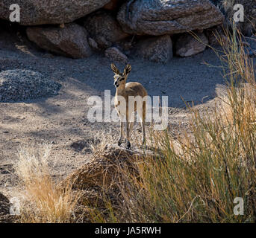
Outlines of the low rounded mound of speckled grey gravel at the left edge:
M49 97L57 94L60 84L29 70L7 70L0 73L0 102Z

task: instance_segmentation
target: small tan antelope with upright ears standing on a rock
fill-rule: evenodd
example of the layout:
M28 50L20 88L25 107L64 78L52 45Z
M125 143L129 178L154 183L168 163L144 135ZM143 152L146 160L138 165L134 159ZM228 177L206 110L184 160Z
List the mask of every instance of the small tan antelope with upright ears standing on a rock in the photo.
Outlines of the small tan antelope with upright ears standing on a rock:
M134 120L132 116L134 112L137 112L143 131L143 145L146 144L146 131L145 131L145 121L146 121L146 96L148 95L146 89L137 82L126 83L128 74L131 72L131 65L126 65L123 73L120 73L116 65L111 64L111 69L115 74L114 86L116 86L116 96L115 96L115 108L117 114L120 118L120 137L118 144L122 144L122 138L126 139L126 147L131 148L130 136L131 130L134 126ZM139 96L139 97L137 97ZM136 98L134 100L134 98ZM137 98L141 99L140 103L137 102ZM121 99L125 100L125 104L120 103ZM130 102L129 102L130 101ZM133 103L133 104L132 104ZM124 106L125 105L125 106ZM124 131L124 126L126 127L126 136Z

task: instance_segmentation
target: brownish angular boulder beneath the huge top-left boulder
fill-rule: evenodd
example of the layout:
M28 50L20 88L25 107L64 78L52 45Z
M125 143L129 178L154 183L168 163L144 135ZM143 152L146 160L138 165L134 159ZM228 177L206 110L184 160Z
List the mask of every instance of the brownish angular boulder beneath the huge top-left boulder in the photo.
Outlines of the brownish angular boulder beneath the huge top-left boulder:
M27 28L27 35L40 48L66 57L84 58L92 54L87 42L87 30L75 23L64 28L31 27Z

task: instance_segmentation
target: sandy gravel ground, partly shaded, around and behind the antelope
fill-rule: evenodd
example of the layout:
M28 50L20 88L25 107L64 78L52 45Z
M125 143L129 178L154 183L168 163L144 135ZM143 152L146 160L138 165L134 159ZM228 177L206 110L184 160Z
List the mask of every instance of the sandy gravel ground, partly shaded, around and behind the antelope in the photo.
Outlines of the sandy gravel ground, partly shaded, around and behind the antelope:
M166 65L131 59L128 80L142 83L151 96L169 97L169 126L175 130L187 121L184 101L206 108L216 97L216 90L225 84L221 70L208 67L204 61L219 65L210 49L186 59L174 57ZM23 145L51 143L52 173L62 178L90 159L90 144L97 146L106 137L110 142L117 140L119 123L87 120L90 96L104 98L104 90L110 90L112 96L115 93L110 60L103 55L82 60L57 57L31 45L23 36L0 30L0 67L0 71L39 71L62 86L54 97L0 103L0 193L12 197L19 191L13 164ZM140 132L136 134L141 136ZM71 147L77 141L82 141L81 151Z

